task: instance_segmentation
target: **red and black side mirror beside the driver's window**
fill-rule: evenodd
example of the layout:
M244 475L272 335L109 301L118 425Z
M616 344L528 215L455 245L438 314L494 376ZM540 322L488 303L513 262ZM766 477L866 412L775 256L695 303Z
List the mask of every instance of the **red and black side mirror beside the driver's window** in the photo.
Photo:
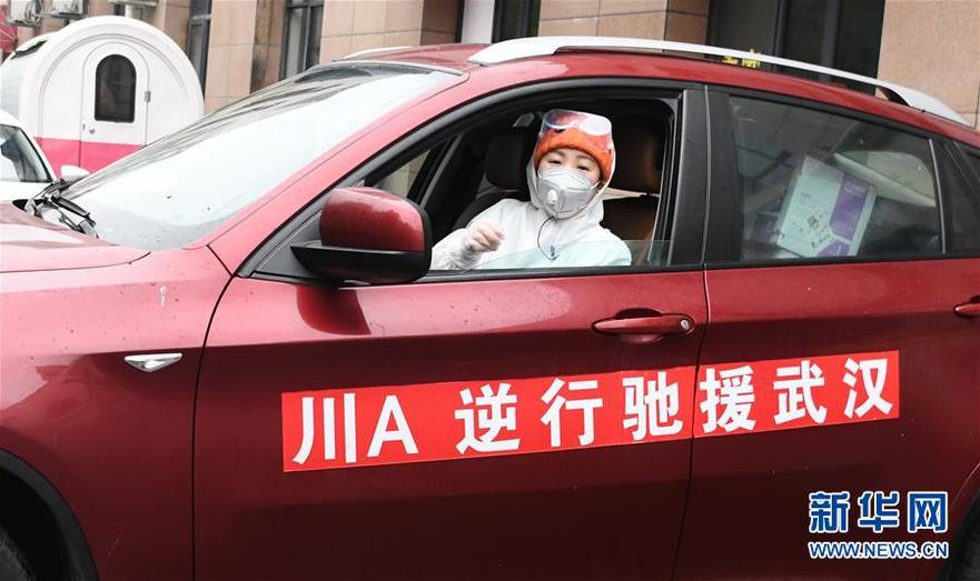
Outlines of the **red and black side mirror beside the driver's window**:
M327 193L320 239L291 247L304 267L330 282L410 282L428 272L432 229L415 203L374 188Z

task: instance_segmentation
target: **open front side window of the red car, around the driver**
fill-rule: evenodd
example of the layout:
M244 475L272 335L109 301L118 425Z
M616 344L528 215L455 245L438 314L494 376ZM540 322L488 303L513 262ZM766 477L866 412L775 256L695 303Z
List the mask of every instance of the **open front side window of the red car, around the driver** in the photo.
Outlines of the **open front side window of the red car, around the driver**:
M364 186L385 190L382 186L387 186L389 192L398 196L405 196L407 189L407 198L427 218L432 241L427 278L434 280L471 272L481 279L487 278L487 272L493 272L489 278L564 277L595 269L645 272L665 266L699 266L704 220L703 214L690 210L701 207L705 197L704 92L656 89L649 91L649 96L636 94L639 90L624 96L614 89L615 84L596 91L592 83L583 82L583 88L588 87L587 97L580 96L577 89L563 88L546 96L515 89L515 93L522 93L519 98L495 96L488 102L469 103L459 114L438 119L425 130L386 146L376 158L333 188ZM627 84L632 86L632 81L624 81L624 86ZM542 218L541 212L525 211L533 210L528 161L544 113L552 109L601 114L612 124L615 170L611 172L610 188L602 201L603 211L590 213L595 228L588 229L588 237L565 236L567 232L554 236L553 220ZM683 128L689 124L693 131L684 134ZM681 149L689 154L681 154ZM684 181L685 176L691 179ZM683 193L679 192L682 183ZM297 259L294 250L298 246L315 246L320 239L321 202L329 192L325 186L323 197L284 224L280 233L242 267L244 272L296 280L317 278ZM523 213L528 218L524 228L511 223L515 228L507 232L518 232L505 234L511 248L495 256L483 252L484 262L505 259L503 266L495 262L473 269L456 261L437 266L438 244L448 237L459 236L477 216L501 204L516 210L509 212L511 217ZM536 243L538 233L540 246ZM515 239L529 240L529 243L514 244ZM552 246L557 253L571 252L585 260L575 263L568 262L572 257L551 260L541 250L551 251ZM593 250L595 247L605 250L612 247L613 252L603 253L613 257L612 260L590 262L597 252ZM542 262L517 264L523 260L517 254L542 257ZM511 258L506 259L507 256Z

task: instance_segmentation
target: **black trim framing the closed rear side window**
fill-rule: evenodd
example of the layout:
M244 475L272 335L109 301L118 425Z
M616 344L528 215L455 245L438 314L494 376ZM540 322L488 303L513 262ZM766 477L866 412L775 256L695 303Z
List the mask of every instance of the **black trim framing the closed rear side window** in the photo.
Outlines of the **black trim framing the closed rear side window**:
M917 260L954 260L962 258L972 258L976 253L960 252L948 253L948 241L951 236L947 229L947 217L944 207L944 192L942 184L942 167L937 162L934 148L941 142L954 142L962 147L962 143L956 141L948 136L929 131L920 127L902 123L892 119L878 117L857 109L849 109L821 101L813 101L795 96L786 96L782 93L773 93L769 91L760 91L755 89L745 89L741 87L729 87L712 84L706 88L709 93L719 93L724 96L725 107L720 107L717 101L709 103L709 122L711 123L711 134L709 136L710 152L712 156L709 164L709 187L707 187L707 204L714 208L707 217L705 223L705 244L704 244L704 264L706 270L727 270L738 268L775 268L775 267L815 267L815 266L834 266L834 264L863 264L874 262L907 262ZM779 104L786 104L802 109L810 109L824 113L831 113L858 121L872 123L884 127L887 129L902 131L915 137L925 139L929 143L932 164L933 181L936 183L937 211L939 212L940 240L942 249L938 253L928 254L891 254L883 257L838 257L838 258L799 258L799 259L775 259L775 260L742 260L740 256L734 256L741 244L741 208L738 212L731 213L731 206L738 206L738 192L725 191L731 190L730 184L738 183L738 168L735 167L734 151L734 127L731 119L731 107L729 99L731 97L740 97L754 99L756 101L769 101ZM716 98L717 99L717 98ZM729 143L731 149L727 149ZM717 159L726 159L724 168L727 171L719 179L714 178L721 173ZM727 198L727 199L726 199ZM729 213L725 213L725 203L729 204ZM739 244L733 243L732 236L739 237Z

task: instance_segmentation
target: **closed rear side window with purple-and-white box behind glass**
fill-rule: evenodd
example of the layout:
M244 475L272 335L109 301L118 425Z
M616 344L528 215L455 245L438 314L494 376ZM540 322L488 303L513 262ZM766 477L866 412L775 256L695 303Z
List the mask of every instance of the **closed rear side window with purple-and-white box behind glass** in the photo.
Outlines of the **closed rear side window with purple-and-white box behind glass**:
M732 98L743 260L941 252L929 141Z

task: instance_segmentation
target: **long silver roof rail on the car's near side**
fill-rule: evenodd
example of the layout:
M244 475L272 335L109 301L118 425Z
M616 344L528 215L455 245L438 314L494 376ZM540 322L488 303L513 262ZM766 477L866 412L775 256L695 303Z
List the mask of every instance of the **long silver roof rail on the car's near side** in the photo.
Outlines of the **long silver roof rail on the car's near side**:
M962 117L939 99L914 89L909 89L908 87L880 81L862 74L854 74L853 72L811 64L809 62L800 62L791 59L783 59L781 57L771 57L761 52L746 52L744 50L693 44L691 42L621 37L528 37L505 40L503 42L491 44L469 57L469 61L476 64L497 64L529 57L545 57L548 54L555 54L560 51L587 49L624 52L670 51L674 53L711 54L722 58L727 57L750 61L754 60L758 62L784 67L786 69L814 72L868 84L875 89L880 89L890 101L897 101L911 107L912 109L932 113L961 124L968 124Z

